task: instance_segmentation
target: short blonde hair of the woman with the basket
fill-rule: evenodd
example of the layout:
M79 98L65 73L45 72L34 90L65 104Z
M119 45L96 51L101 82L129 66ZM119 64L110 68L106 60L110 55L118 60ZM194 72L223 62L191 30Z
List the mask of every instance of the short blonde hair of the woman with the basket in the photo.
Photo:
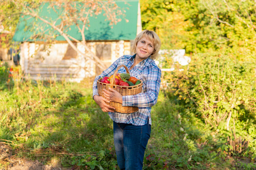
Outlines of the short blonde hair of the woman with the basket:
M134 40L134 44L131 47L131 51L136 53L136 47L137 44L139 42L139 40L141 40L143 37L146 37L147 39L149 39L150 41L153 42L154 45L154 52L151 54L151 59L156 59L158 58L158 52L160 50L160 46L161 46L161 41L159 39L159 36L154 32L154 31L149 31L147 29L145 29L144 31L142 31L141 33L139 33L135 40Z

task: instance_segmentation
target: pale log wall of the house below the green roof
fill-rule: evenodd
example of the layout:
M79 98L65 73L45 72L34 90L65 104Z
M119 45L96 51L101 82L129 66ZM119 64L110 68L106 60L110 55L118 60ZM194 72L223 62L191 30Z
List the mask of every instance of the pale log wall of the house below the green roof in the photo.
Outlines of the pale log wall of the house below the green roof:
M88 42L88 45L108 66L123 54L131 54L130 41ZM76 46L84 52L81 44ZM51 46L34 42L22 43L20 65L26 77L43 80L66 79L80 82L85 77L96 76L103 71L92 60L85 59L65 42Z

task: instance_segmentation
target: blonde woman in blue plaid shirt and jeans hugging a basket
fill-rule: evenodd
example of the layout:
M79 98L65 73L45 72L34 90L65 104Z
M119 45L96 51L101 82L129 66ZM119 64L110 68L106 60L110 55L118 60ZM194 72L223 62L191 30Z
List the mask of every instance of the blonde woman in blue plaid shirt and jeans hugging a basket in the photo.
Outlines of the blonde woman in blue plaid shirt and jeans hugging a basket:
M103 112L109 112L113 120L114 145L120 169L134 170L143 167L144 152L151 133L151 107L156 104L161 82L161 70L154 61L160 45L160 39L154 31L142 31L134 40L134 56L125 55L118 58L94 79L93 99ZM99 96L97 80L113 75L119 65L126 65L131 76L142 80L142 92L137 95L121 96L119 92L110 89L103 92L105 98ZM126 73L125 68L121 67L118 73ZM121 103L123 106L138 107L139 111L130 114L113 112L111 109L115 108L106 104L110 101Z

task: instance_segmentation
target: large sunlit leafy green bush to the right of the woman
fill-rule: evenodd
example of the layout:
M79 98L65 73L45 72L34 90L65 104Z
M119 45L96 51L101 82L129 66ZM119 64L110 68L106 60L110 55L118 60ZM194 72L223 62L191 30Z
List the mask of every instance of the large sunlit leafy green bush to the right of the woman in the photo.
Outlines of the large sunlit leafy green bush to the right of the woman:
M228 56L193 56L189 67L164 75L168 91L212 128L230 129L230 120L255 118L255 63ZM254 121L255 123L255 121Z

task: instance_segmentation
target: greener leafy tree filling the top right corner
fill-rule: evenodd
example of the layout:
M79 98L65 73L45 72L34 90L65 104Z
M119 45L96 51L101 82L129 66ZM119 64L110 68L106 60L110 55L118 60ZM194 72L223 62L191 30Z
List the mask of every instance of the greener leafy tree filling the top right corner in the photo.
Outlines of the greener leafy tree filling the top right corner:
M211 16L211 22L218 25L218 31L222 32L220 45L228 46L230 53L241 56L244 59L255 59L256 50L256 4L255 1L200 1L205 8L205 14Z

